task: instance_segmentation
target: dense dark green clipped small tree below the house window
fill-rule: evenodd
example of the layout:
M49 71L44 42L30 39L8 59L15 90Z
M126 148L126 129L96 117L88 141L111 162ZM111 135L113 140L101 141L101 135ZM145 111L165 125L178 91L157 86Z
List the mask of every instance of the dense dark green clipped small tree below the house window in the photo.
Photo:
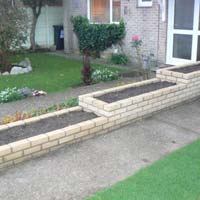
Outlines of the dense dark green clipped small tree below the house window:
M90 24L89 20L82 16L72 17L74 32L79 41L79 49L83 54L83 81L89 85L92 82L92 69L90 56L100 56L102 51L112 45L119 44L125 37L125 24ZM87 77L85 77L87 75ZM87 81L85 81L87 80Z

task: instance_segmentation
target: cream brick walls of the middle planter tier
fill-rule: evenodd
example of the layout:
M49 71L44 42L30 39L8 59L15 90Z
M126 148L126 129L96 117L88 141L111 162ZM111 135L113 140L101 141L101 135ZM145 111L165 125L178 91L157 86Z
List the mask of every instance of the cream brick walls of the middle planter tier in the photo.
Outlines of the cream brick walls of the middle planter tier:
M140 119L141 117L185 100L184 93L187 89L185 84L177 84L110 104L96 99L96 97L110 92L121 91L127 88L138 87L159 81L159 79L151 79L83 95L79 97L80 105L84 107L85 110L92 111L97 115L114 118L116 119L116 123L118 123L121 121L128 122L133 119Z

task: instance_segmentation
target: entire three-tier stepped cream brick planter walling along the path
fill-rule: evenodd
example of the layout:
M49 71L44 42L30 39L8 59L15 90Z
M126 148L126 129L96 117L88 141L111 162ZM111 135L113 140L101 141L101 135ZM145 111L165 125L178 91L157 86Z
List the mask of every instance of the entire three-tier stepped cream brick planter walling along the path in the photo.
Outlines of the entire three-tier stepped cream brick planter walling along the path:
M117 129L130 122L147 117L154 112L199 96L200 70L191 73L182 73L181 70L176 71L176 69L183 67L186 67L186 65L161 69L157 71L155 79L80 96L80 106L75 108L64 109L8 125L1 125L0 134L13 127L33 124L44 119L66 115L66 113L70 112L85 110L97 115L97 117L91 120L0 146L0 168L46 154L65 144L79 142L97 134ZM174 84L169 84L161 89L158 87L159 89L136 94L113 103L99 100L99 97L106 94L120 93L130 88L139 88L165 81Z

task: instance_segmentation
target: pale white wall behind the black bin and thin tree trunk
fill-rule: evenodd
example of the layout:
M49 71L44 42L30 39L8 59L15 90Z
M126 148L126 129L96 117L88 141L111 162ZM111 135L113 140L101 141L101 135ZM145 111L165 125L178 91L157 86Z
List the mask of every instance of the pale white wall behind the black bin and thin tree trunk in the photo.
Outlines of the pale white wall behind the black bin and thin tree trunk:
M53 25L63 25L63 7L45 6L42 8L36 27L36 44L42 47L51 47L54 45ZM32 12L28 9L31 16ZM28 41L26 47L30 47Z

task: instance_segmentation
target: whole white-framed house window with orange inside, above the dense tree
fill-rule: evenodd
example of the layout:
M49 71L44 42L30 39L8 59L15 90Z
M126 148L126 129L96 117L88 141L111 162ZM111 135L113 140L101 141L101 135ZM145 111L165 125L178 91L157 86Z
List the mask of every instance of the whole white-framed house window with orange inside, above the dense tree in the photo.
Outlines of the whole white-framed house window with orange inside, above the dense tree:
M92 23L119 22L121 0L88 0L88 18Z

